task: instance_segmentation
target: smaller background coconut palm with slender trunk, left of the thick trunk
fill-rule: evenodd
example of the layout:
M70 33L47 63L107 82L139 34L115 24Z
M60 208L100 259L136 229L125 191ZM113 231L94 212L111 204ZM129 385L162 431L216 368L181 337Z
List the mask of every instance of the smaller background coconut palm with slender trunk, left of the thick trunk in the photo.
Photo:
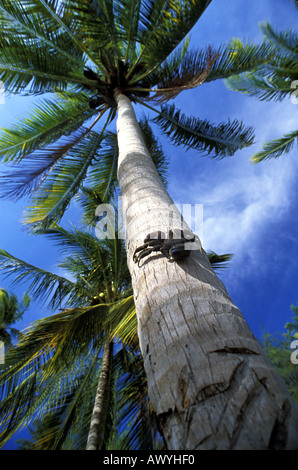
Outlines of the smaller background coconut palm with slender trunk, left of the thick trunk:
M115 387L128 377L130 362L133 368L132 353L125 353L121 343L113 353L114 342L122 339L132 351L138 346L123 242L99 244L86 232L61 227L51 229L49 236L68 253L60 268L72 275L72 281L0 253L1 268L14 276L15 283L31 280L30 292L39 298L43 294L53 308L63 306L60 313L31 325L7 355L8 367L0 377L2 442L38 412L46 426L35 449L82 448L100 370L97 390L102 401L95 441L97 449L103 448L115 434L113 408L121 409ZM126 359L124 364L121 358ZM138 370L140 379L142 371ZM146 399L139 406L146 408ZM126 401L128 406L130 398ZM146 415L140 419L141 429L146 419ZM90 440L94 441L94 420L87 449L92 448ZM142 446L144 441L137 438L136 442Z

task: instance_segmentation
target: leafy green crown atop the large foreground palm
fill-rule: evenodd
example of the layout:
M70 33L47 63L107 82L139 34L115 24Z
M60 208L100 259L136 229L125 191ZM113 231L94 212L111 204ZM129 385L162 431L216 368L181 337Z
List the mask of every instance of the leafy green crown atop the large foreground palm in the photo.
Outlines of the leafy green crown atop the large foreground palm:
M252 143L252 129L238 121L212 124L167 104L185 89L270 57L269 45L191 51L188 33L210 3L2 2L0 80L7 92L45 95L0 136L0 155L12 165L1 193L33 195L27 223L58 222L82 182L100 180L107 155L112 172L115 146L107 126L116 114L116 90L154 110L155 123L185 148L221 157Z

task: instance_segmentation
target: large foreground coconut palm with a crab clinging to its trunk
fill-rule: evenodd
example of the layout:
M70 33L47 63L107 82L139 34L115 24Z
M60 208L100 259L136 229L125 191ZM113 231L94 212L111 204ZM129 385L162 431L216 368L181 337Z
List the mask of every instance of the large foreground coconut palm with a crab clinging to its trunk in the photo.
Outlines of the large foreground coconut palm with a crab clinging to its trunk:
M50 93L2 133L0 153L19 166L8 173L6 194L33 192L27 222L39 228L57 222L84 179L100 171L107 126L117 114L117 172L138 335L166 446L291 448L297 410L199 240L186 246L180 233L173 246L171 230L189 229L159 178L133 109L135 103L150 107L174 144L202 154L232 155L252 143L252 130L242 123L215 125L167 104L184 90L249 71L271 57L267 44L190 51L188 33L210 3L3 3L0 78L6 90ZM164 235L152 242L156 232ZM135 258L145 239L141 250L149 253L139 254L148 257ZM173 255L171 262L154 251L166 247L172 247L165 252Z

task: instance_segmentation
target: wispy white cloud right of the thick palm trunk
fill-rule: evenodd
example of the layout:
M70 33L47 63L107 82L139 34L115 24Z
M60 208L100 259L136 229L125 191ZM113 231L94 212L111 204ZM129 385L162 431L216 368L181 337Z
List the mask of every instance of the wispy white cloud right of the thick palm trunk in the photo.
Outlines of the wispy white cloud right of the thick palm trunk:
M228 270L231 276L233 267L238 274L263 269L259 254L264 243L274 242L274 230L289 215L296 194L294 152L257 165L247 160L244 156L234 166L228 165L224 177L219 170L209 178L192 179L184 187L179 187L178 180L171 184L175 202L203 203L203 246L217 253L234 253Z

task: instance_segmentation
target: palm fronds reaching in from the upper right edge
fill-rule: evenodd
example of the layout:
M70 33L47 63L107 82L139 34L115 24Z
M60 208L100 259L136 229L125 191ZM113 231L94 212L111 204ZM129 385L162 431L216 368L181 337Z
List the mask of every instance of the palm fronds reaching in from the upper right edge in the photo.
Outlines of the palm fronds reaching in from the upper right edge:
M275 47L273 58L254 72L228 78L226 84L230 89L260 101L291 99L297 104L298 34L291 30L278 32L269 23L261 25L261 30L268 43ZM298 130L266 142L251 160L258 163L280 157L288 153L295 143L298 143Z

